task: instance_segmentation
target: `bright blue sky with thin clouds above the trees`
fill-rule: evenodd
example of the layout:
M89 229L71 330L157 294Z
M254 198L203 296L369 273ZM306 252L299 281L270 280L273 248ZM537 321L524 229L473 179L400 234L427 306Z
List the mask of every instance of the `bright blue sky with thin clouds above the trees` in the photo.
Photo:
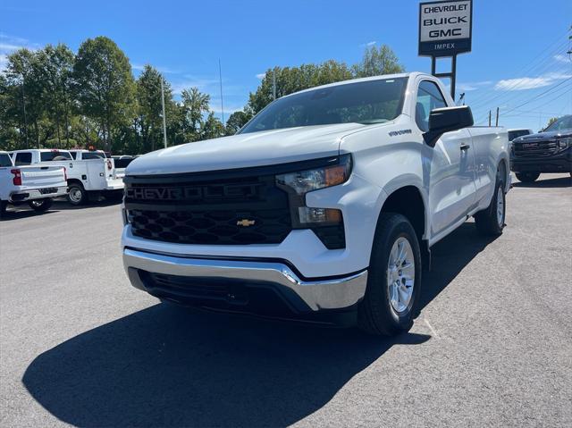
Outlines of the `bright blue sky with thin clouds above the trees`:
M351 64L368 44L387 44L408 71L430 71L431 60L417 56L418 4L4 0L0 68L19 46L63 42L76 50L84 39L104 35L128 55L135 74L151 63L175 91L197 86L211 95L220 116L220 58L228 117L273 65ZM485 124L497 106L501 125L510 128L537 130L551 116L572 113L570 0L474 0L473 20L473 52L458 56L458 93L466 93L475 122Z

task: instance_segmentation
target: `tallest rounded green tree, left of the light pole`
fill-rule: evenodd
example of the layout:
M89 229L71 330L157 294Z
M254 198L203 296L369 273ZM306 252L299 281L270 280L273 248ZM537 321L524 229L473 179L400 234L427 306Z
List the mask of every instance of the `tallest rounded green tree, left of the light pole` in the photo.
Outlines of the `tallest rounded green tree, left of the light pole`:
M110 38L88 38L73 67L80 112L94 119L107 150L115 131L135 116L135 83L129 59Z

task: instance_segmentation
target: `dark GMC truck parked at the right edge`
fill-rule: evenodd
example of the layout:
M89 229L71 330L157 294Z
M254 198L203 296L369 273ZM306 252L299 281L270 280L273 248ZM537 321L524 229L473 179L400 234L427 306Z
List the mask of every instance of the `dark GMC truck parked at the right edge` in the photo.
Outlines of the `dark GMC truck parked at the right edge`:
M542 132L515 138L510 152L510 169L523 182L531 183L544 172L572 176L572 115L559 118Z

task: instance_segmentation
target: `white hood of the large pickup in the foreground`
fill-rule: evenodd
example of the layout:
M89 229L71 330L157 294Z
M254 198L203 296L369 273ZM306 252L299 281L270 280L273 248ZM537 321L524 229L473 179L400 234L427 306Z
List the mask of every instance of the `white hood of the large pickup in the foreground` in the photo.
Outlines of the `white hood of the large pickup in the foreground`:
M341 138L367 125L340 123L206 139L139 156L126 175L216 171L338 155Z

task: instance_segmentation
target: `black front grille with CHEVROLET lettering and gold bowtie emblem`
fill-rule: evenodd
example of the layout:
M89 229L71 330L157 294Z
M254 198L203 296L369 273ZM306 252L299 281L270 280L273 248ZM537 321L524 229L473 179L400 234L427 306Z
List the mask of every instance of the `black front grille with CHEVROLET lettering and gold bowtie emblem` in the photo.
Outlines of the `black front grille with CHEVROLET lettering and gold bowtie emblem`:
M181 244L280 243L291 230L290 208L274 181L273 175L132 180L125 193L131 231Z

